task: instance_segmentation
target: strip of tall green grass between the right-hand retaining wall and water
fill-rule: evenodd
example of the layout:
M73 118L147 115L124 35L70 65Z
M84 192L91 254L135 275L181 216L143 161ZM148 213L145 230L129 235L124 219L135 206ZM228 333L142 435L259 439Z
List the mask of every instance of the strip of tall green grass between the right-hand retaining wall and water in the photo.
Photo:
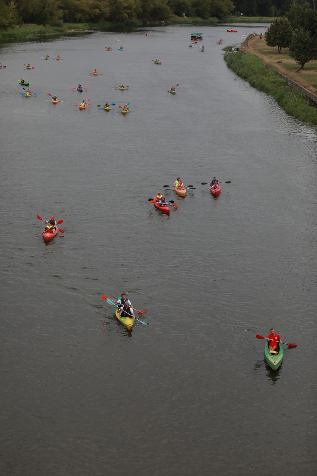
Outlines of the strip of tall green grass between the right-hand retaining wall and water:
M225 55L224 60L238 76L272 96L293 118L317 126L317 109L300 91L287 86L286 80L264 66L254 55Z

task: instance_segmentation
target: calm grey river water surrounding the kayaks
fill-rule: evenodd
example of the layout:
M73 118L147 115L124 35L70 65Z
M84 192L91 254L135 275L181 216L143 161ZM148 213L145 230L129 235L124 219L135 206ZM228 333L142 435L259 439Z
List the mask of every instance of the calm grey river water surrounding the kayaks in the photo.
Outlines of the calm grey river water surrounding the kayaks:
M2 45L1 475L316 474L317 134L215 43L264 27L198 27L204 54L187 26ZM121 292L149 326L116 322ZM275 372L271 326L298 344Z

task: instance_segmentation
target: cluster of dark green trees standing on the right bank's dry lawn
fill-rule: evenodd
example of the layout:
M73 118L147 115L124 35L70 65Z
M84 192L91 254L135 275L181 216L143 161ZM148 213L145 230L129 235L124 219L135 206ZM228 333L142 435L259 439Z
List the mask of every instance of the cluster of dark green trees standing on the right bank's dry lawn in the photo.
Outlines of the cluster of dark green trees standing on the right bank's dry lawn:
M268 46L289 48L290 57L301 68L317 60L317 11L308 2L293 3L285 16L276 18L265 35Z

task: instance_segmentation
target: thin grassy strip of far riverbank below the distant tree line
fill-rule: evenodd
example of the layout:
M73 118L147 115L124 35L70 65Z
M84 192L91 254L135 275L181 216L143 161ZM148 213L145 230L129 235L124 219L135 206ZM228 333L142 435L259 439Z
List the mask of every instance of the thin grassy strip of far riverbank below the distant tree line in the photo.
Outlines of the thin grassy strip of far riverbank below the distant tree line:
M151 27L159 25L202 25L202 24L226 24L226 23L270 23L273 18L270 17L234 17L230 16L225 21L220 21L218 18L187 18L172 16L165 21L148 22L142 20L131 20L127 23L64 23L63 26L43 26L35 24L16 25L10 30L0 31L0 42L8 40L23 40L24 38L32 38L38 36L49 36L55 34L67 34L75 31L89 32L89 31L106 31L109 28L122 28L126 26L131 27Z

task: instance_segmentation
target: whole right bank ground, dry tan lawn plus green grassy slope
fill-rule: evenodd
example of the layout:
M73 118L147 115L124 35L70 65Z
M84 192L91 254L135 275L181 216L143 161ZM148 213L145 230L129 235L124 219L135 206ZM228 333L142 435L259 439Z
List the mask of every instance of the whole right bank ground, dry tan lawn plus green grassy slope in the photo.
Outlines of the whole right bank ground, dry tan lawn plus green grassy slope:
M245 55L224 55L228 67L248 81L251 86L269 94L289 116L316 127L317 108L314 103L300 91L288 86L287 81L279 77L276 72L282 73L303 88L317 94L317 61L309 63L306 67L307 71L298 74L296 61L290 58L288 49L278 54L277 48L267 46L265 40L260 40L258 35L254 39L247 40L248 43L245 41L240 47L246 53ZM226 51L230 49L229 46L224 48ZM280 60L281 62L277 62Z

